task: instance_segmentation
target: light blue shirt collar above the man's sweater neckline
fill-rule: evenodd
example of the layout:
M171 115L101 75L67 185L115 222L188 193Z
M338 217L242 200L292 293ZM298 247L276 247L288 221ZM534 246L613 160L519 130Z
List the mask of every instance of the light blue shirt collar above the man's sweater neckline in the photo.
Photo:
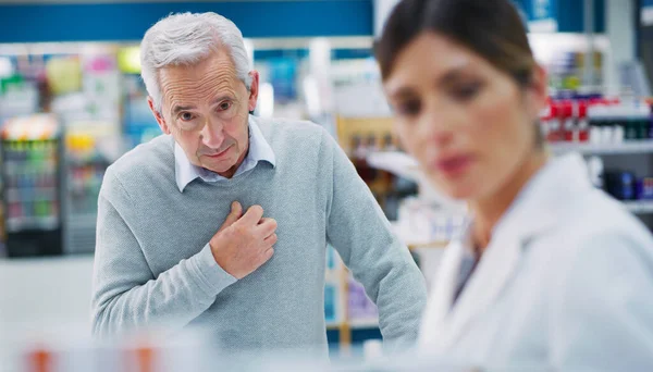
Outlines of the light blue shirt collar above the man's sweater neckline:
M247 157L234 174L234 177L252 170L260 161L266 161L273 168L276 166L274 151L272 151L272 147L266 140L266 137L251 115L249 116L248 128L249 150ZM201 178L205 182L227 179L209 170L192 164L188 157L186 157L186 153L176 141L174 142L174 165L175 181L180 193L184 193L186 186L196 178Z

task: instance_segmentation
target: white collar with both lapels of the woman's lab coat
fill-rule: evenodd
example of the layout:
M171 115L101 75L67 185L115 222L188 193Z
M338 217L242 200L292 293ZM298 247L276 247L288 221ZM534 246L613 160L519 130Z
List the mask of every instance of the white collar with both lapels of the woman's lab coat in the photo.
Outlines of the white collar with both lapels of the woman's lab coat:
M554 228L564 212L560 206L567 200L572 201L575 196L583 195L583 191L587 195L591 188L587 166L580 156L569 154L550 160L526 185L493 230L490 246L452 308L466 249L465 239L453 241L443 258L433 288L435 298L428 309L430 324L424 324L430 328L427 333L438 335L426 342L436 342L439 347L445 349L455 343L473 320L497 300L519 266L528 241ZM471 224L468 224L466 238L469 238L470 227Z

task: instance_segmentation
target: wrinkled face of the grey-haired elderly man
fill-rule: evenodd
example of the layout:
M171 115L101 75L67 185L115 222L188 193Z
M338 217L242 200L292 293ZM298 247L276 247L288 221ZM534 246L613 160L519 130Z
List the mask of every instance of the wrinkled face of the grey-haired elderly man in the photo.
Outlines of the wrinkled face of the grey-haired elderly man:
M232 177L245 159L248 114L258 96L258 73L250 72L250 76L248 91L223 49L196 65L159 71L161 112L155 110L151 98L150 109L194 165Z

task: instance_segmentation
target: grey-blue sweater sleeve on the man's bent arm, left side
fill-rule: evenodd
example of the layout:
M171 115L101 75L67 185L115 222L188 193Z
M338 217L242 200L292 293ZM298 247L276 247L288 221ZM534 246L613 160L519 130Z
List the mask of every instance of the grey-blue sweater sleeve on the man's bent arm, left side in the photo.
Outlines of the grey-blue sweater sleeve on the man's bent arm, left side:
M128 201L120 181L108 171L98 199L93 276L93 332L97 336L159 326L180 328L236 282L218 265L208 244L155 277L116 207L133 206Z

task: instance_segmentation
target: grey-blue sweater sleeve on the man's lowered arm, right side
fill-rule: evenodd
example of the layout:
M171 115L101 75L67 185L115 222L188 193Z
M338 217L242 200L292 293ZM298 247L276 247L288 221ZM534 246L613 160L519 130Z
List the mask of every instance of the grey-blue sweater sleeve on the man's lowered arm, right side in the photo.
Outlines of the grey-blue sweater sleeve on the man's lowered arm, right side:
M392 234L390 222L354 164L326 133L321 153L332 174L325 183L333 183L326 211L328 240L377 303L385 346L391 350L411 347L427 302L424 278L406 246Z

